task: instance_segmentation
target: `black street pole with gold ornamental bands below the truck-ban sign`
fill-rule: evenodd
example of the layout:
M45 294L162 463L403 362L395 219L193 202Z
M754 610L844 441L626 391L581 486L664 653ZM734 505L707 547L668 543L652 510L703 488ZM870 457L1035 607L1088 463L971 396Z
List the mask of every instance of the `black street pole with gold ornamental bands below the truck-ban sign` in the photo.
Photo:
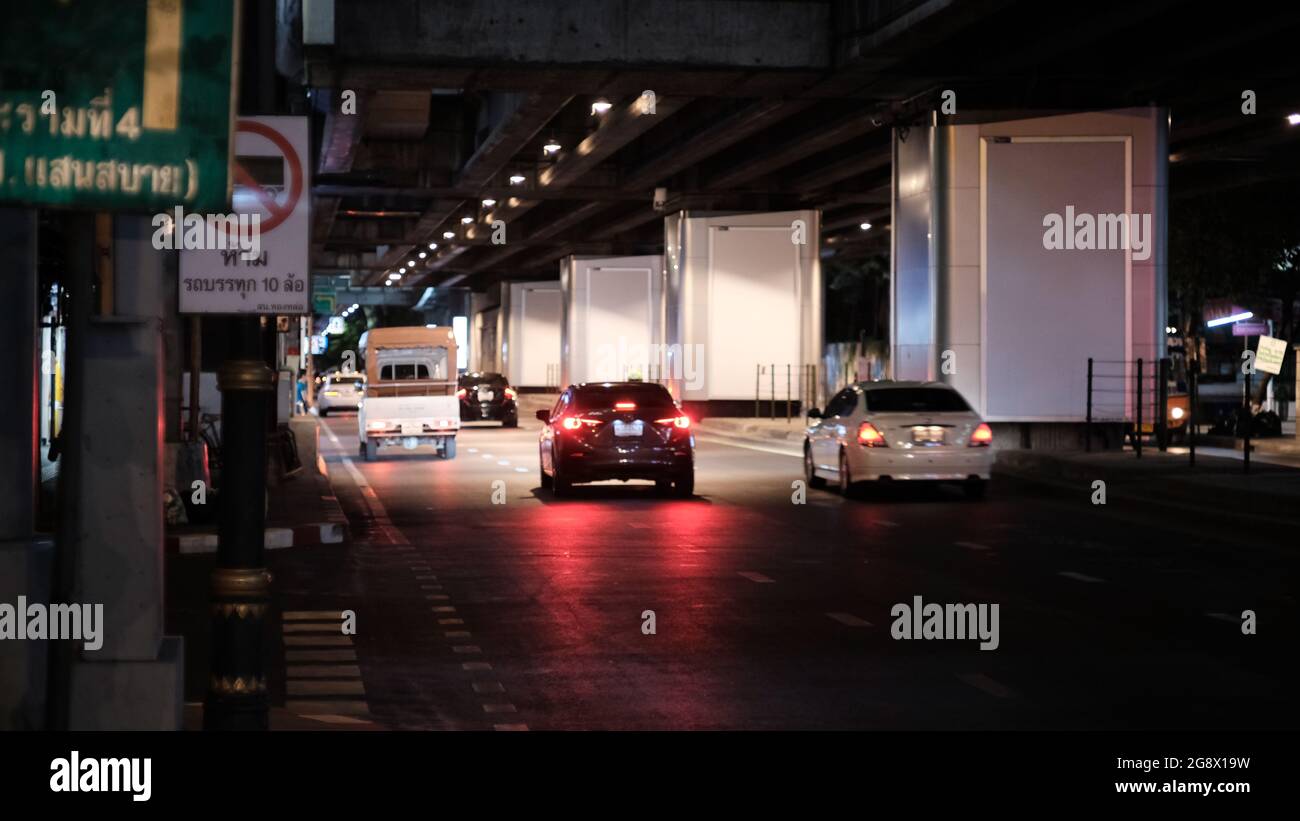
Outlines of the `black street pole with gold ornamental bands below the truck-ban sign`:
M263 560L266 520L266 404L273 374L261 356L257 317L233 321L221 390L221 520L212 572L212 676L205 730L268 729L263 621L270 574Z

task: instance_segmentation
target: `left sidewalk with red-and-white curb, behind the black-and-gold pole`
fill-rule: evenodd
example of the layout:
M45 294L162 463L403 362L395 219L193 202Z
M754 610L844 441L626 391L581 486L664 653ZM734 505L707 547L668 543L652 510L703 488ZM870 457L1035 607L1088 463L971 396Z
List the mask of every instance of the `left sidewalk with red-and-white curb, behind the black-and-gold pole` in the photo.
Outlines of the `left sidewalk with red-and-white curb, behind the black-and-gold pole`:
M303 469L270 488L266 507L266 549L337 544L347 539L347 517L329 485L329 470L318 453L320 423L296 416L289 429L298 442ZM168 527L166 552L214 553L217 525Z

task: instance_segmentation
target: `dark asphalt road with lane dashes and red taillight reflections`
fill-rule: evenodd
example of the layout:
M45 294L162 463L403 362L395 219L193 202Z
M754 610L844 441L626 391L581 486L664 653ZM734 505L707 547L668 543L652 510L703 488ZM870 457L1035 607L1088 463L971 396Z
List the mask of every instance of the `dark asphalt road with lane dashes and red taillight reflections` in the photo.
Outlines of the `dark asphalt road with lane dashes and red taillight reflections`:
M1005 482L797 504L797 459L703 439L692 500L555 500L532 420L463 430L455 460L369 464L355 417L322 422L355 542L283 551L276 585L283 609L355 609L386 726L1300 727L1294 534L1247 544ZM892 638L918 595L997 604L997 648Z

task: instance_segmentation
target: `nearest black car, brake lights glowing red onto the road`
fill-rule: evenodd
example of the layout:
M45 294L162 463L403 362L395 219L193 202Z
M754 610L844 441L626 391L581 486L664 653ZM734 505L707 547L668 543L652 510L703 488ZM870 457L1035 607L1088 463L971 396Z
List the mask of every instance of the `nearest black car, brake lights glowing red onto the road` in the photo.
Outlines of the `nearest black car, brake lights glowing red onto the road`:
M650 479L681 498L696 492L690 417L662 385L571 385L537 418L542 487L556 496L575 483L604 479Z

